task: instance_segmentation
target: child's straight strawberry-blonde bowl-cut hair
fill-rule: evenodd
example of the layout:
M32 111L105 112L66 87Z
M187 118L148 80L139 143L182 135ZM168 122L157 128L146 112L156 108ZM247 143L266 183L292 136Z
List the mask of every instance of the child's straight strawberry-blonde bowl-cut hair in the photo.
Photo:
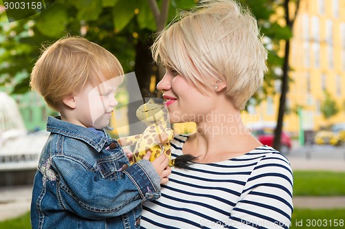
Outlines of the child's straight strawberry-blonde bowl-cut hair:
M30 87L43 96L49 107L59 111L66 96L90 83L123 77L117 58L103 47L77 36L70 36L43 47L32 69Z

